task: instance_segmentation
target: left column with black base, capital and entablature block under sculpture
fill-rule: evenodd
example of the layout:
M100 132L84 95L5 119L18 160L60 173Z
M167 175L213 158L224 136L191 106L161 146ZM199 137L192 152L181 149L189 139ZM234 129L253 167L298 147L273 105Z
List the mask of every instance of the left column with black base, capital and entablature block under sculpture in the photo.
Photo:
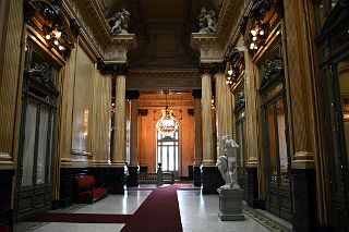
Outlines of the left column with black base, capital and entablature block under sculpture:
M108 192L112 194L124 193L124 166L125 166L125 82L128 74L129 50L135 48L134 34L116 35L110 38L110 45L105 51L105 58L99 59L98 70L103 75L116 78L116 113L115 134L111 164L104 172L104 181Z

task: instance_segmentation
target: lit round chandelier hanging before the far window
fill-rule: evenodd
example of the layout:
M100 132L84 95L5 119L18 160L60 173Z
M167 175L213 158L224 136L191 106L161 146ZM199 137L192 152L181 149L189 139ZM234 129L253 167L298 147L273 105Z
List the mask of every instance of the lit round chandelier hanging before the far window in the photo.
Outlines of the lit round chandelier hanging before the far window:
M167 106L167 95L165 94L166 107L165 110L161 110L161 119L156 123L156 130L164 134L165 136L169 136L173 134L178 130L178 122L172 113L172 110L168 109Z

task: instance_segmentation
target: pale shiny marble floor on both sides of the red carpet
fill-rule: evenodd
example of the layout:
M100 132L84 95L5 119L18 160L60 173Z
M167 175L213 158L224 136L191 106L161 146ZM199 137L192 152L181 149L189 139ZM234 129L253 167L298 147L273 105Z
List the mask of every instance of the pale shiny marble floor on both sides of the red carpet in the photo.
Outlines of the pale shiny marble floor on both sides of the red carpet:
M124 195L109 195L93 205L73 205L53 212L132 215L151 192L151 190L127 191ZM184 232L284 231L278 228L269 230L270 228L262 225L248 213L245 213L244 221L220 221L218 218L218 195L202 195L201 191L186 190L177 191L177 196ZM120 231L123 225L121 223L20 222L14 224L14 232L116 232Z

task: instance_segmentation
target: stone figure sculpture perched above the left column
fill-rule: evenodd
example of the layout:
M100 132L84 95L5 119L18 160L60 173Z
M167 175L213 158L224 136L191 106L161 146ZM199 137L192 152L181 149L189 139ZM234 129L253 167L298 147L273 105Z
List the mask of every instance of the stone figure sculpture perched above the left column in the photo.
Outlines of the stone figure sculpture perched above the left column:
M124 8L117 12L115 16L107 20L107 23L111 27L111 33L115 35L128 34L130 20L130 12Z

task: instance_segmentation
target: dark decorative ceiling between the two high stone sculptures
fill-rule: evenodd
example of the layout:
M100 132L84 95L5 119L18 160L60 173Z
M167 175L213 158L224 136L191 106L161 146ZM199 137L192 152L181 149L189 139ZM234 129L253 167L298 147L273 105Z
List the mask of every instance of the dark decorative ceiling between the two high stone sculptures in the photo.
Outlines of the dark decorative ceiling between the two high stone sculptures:
M140 90L201 88L200 53L190 47L191 33L198 32L201 8L213 9L218 15L222 0L98 1L106 19L122 8L130 12L128 32L135 34L137 48L128 54L128 89L137 89L140 81Z

